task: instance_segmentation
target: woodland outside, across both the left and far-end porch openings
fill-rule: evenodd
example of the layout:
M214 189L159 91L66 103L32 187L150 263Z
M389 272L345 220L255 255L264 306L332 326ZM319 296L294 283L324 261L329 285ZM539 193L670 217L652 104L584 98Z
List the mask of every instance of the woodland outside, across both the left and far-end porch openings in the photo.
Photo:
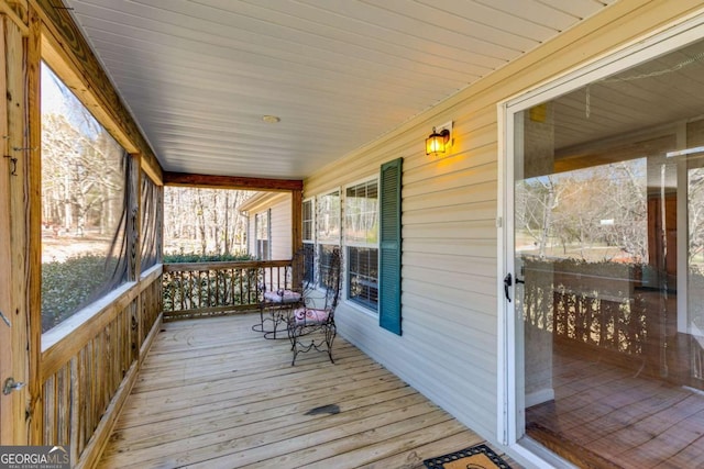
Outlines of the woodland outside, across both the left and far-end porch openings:
M136 209L127 208L129 200L136 200L138 188L132 157L46 65L42 70L42 330L46 332L128 280L125 242L132 220L128 212L134 214ZM253 193L167 188L164 252L216 258L244 254L246 219L239 206ZM143 219L158 221L156 213ZM142 245L156 249L157 239L147 236L157 236L158 230L142 228ZM156 258L151 253L151 264Z

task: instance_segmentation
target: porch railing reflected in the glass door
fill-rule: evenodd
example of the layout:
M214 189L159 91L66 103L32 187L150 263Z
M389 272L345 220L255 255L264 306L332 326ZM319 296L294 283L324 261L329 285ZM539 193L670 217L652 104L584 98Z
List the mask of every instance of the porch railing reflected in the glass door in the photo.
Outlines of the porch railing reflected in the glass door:
M606 266L610 276L592 268L604 265L527 260L526 325L573 353L704 389L701 337L678 332L675 297L644 288L635 266Z

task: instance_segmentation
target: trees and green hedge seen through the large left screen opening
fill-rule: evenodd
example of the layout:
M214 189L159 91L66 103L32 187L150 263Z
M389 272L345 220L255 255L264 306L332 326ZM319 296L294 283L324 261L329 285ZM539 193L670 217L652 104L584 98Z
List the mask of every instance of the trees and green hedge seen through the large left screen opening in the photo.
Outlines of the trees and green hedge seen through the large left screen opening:
M130 157L42 67L42 331L127 281Z

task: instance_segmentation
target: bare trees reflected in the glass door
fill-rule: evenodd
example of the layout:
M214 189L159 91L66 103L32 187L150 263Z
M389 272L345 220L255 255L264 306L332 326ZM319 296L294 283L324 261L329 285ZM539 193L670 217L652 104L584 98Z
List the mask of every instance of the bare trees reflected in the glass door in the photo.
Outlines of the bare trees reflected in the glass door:
M638 158L526 179L516 186L517 248L540 258L654 264L656 231L648 204L671 210L670 187L653 187L649 172L675 171L674 161ZM704 272L704 168L692 160L688 181L688 265ZM670 213L675 216L674 212ZM650 216L650 219L649 219ZM666 230L674 230L667 226Z

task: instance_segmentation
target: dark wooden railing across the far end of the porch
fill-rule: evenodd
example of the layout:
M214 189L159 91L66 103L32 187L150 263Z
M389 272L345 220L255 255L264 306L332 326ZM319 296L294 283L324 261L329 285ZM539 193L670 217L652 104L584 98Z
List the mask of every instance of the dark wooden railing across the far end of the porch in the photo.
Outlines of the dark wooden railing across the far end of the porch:
M258 309L263 292L290 288L290 260L165 264L164 321Z

